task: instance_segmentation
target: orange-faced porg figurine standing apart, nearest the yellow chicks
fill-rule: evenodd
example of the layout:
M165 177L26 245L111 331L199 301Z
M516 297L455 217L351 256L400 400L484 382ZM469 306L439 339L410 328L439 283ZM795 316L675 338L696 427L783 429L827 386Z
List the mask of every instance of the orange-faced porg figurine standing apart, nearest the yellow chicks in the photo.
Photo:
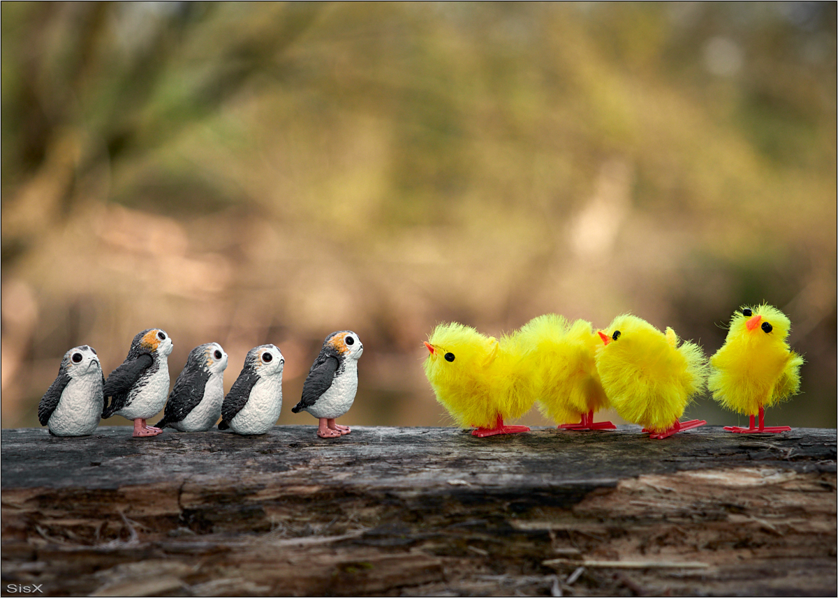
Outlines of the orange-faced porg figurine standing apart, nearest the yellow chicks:
M357 334L351 330L331 333L308 371L303 398L292 411L305 410L318 418L317 435L321 438L337 438L351 431L349 426L337 425L334 420L349 411L355 400L361 353L364 345Z

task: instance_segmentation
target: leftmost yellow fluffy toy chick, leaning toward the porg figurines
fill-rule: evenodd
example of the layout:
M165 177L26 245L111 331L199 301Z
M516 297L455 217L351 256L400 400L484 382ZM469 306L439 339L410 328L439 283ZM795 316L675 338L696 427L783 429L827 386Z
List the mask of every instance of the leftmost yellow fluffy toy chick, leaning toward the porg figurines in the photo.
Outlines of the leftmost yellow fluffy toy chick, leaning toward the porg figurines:
M423 364L437 401L473 436L529 431L504 420L524 415L535 401L530 390L531 362L517 335L486 337L457 322L434 328L425 343Z

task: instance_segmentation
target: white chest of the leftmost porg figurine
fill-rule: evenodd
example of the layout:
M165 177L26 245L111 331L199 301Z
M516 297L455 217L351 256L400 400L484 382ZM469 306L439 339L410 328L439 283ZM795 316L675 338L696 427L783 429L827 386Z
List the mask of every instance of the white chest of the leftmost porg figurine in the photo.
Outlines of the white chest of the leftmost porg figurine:
M70 379L47 425L56 436L87 436L99 425L105 397L99 369Z

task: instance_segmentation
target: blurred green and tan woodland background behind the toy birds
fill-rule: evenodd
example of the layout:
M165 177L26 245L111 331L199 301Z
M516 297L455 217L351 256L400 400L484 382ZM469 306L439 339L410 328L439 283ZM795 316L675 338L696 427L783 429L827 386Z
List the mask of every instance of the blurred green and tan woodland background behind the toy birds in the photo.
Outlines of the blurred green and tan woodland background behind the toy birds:
M437 322L629 311L710 355L764 301L807 360L767 422L835 427L835 7L3 3L3 426L147 327L172 382L277 344L298 424L350 328L342 423L449 425Z

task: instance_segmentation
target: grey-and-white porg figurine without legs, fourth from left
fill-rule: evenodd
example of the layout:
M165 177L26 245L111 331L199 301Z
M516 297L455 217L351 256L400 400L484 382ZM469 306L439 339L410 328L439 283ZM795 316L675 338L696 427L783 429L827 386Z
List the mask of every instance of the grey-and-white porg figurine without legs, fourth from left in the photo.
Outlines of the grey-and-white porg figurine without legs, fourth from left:
M282 409L282 367L285 358L272 344L251 348L245 367L221 405L219 430L246 436L265 434Z

